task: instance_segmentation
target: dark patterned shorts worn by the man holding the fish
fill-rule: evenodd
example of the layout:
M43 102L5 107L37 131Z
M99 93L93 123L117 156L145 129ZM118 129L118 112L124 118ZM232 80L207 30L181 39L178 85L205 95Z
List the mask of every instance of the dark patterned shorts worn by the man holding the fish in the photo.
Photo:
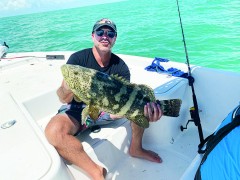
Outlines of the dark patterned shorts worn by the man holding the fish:
M91 128L91 130L93 132L99 132L101 125L106 125L113 121L113 119L110 118L110 114L108 114L106 112L101 112L96 121L93 121L88 116L86 121L83 123L82 122L82 110L85 107L86 107L86 105L84 103L81 103L79 105L67 104L67 105L62 105L60 107L60 109L58 110L57 114L66 113L69 116L69 118L74 118L75 120L77 120L79 122L80 127L79 127L77 133L74 134L75 136L88 128Z

